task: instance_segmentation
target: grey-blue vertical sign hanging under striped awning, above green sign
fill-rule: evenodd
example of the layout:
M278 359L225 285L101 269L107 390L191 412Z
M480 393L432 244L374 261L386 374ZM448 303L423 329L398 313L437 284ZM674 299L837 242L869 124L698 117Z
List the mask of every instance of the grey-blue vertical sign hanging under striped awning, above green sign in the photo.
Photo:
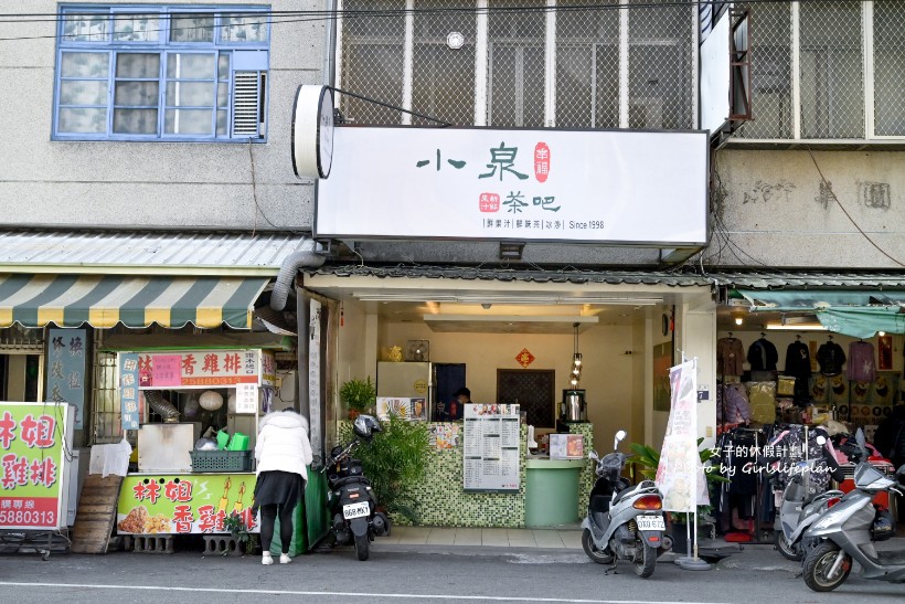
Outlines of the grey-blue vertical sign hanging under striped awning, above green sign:
M50 329L47 347L47 389L45 400L66 402L75 407L75 427L82 430L85 409L84 329Z

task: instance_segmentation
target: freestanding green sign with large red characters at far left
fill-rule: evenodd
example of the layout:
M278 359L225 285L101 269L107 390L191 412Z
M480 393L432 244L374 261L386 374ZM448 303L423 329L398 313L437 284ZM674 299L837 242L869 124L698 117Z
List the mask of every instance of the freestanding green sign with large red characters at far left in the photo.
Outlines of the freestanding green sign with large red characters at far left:
M0 530L65 526L66 403L0 403ZM65 435L65 436L64 436Z

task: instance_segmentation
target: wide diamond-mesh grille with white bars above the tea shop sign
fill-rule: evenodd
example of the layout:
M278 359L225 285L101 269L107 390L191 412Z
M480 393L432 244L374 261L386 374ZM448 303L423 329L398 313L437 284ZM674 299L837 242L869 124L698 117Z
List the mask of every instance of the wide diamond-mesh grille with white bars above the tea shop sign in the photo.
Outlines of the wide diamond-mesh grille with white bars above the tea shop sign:
M455 125L694 127L693 2L560 4L345 0L340 87ZM348 96L340 109L358 124L429 124Z

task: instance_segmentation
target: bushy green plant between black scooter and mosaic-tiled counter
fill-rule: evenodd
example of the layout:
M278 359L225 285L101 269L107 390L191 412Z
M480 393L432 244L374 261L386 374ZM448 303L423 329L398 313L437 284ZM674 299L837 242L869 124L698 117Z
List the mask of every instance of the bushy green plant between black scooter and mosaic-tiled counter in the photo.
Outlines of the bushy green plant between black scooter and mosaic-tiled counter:
M377 505L391 515L418 523L418 502L413 487L424 477L430 455L430 428L425 422L409 422L395 413L381 422L383 432L374 433L353 453L371 480ZM343 441L353 438L352 425L340 428Z

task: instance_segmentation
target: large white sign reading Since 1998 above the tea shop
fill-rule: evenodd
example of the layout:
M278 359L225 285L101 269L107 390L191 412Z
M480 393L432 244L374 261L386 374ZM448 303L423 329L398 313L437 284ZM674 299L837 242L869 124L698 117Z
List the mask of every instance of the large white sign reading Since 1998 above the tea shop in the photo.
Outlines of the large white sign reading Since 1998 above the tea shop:
M707 134L337 127L319 237L707 241Z

